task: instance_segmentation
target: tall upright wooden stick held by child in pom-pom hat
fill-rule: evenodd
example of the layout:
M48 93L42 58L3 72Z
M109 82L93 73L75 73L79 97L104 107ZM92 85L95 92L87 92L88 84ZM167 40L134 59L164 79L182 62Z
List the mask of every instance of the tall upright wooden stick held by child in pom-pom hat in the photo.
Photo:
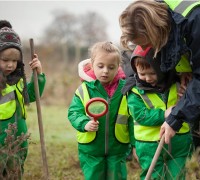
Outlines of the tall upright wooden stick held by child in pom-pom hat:
M33 39L30 39L30 48L31 48L31 58L34 59L34 42ZM45 141L44 141L44 130L42 124L42 113L41 113L41 105L40 105L40 94L38 87L38 77L36 69L33 69L33 79L34 79L34 89L35 89L35 97L36 97L36 107L37 107L37 115L38 115L38 125L39 125L39 133L40 133L40 144L41 144L41 152L42 152L42 160L43 160L43 170L45 175L45 180L49 179L47 158L46 158L46 149L45 149Z

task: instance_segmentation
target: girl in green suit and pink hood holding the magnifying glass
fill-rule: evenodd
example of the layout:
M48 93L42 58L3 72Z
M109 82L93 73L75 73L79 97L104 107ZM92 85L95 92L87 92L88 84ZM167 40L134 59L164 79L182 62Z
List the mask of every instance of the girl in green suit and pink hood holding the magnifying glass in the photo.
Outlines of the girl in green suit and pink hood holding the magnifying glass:
M98 42L90 50L91 63L84 68L87 75L79 73L83 83L68 109L68 119L78 131L80 165L85 180L125 180L126 153L134 140L133 121L121 93L125 75L120 68L120 51L110 42ZM98 121L85 111L88 100L95 97L108 102L107 114Z

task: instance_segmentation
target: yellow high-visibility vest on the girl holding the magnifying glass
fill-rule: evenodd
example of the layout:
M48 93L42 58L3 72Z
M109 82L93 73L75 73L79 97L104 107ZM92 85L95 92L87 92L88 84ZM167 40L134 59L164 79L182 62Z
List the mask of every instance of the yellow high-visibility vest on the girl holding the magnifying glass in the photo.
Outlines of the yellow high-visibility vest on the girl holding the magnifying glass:
M83 82L81 86L76 90L75 94L79 96L84 107L86 107L87 102L90 100L90 96L87 90L86 84ZM121 104L118 110L118 115L115 124L115 136L117 140L121 143L129 143L129 131L128 131L128 105L126 96L123 96ZM87 114L87 112L85 112ZM90 143L96 137L96 132L77 132L77 141L79 143Z

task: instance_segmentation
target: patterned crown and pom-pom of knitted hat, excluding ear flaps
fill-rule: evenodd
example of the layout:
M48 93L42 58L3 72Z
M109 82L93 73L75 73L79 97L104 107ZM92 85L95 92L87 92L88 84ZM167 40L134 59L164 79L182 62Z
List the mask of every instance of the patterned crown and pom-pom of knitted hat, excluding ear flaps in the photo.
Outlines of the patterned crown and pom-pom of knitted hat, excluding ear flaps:
M0 21L0 52L8 48L16 48L22 52L18 34L12 29L8 21L3 20Z

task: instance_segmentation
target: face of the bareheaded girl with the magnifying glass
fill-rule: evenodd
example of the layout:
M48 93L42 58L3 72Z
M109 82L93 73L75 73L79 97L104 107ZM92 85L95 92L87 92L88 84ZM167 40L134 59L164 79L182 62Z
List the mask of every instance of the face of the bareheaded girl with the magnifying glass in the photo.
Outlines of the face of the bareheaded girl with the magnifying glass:
M112 82L119 68L119 60L115 53L99 52L93 60L92 67L96 78L103 85Z

